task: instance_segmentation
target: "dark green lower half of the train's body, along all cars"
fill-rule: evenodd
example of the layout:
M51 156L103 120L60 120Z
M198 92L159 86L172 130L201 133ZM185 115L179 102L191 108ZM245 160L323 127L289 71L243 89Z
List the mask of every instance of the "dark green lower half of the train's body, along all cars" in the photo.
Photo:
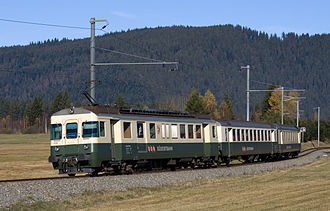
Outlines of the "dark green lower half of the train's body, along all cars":
M112 154L112 151L114 152ZM235 143L110 143L78 144L51 147L49 162L63 174L93 173L109 165L136 164L140 161L190 162L192 160L220 161L224 158L249 155L279 155L300 151L300 144L235 142Z

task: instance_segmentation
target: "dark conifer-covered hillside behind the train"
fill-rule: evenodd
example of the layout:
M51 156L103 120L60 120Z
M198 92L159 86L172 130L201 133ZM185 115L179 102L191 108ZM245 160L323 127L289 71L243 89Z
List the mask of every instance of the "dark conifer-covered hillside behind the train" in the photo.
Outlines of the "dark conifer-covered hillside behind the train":
M24 36L24 35L22 35ZM184 100L191 88L214 93L218 102L228 93L236 114L245 114L246 72L250 64L251 89L265 89L260 82L306 89L301 103L305 117L321 106L330 109L330 35L284 34L269 36L240 26L161 27L105 34L96 46L166 61L171 66L96 67L97 100L111 103L121 93L131 103ZM67 90L73 101L86 102L81 91L89 81L89 39L51 40L28 46L0 48L0 96L52 100ZM142 62L138 58L96 50L97 62ZM259 82L256 82L259 81ZM264 93L252 93L252 106ZM253 107L251 106L251 110Z

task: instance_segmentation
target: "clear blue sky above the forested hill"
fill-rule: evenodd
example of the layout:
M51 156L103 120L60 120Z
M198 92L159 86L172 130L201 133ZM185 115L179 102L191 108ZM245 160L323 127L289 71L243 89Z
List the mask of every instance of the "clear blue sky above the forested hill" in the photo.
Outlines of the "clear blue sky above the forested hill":
M158 26L233 24L281 36L330 33L329 0L2 0L0 47L90 36L89 20L107 19L107 32ZM3 21L84 27L71 29ZM101 28L103 23L97 23ZM97 31L96 35L105 32Z

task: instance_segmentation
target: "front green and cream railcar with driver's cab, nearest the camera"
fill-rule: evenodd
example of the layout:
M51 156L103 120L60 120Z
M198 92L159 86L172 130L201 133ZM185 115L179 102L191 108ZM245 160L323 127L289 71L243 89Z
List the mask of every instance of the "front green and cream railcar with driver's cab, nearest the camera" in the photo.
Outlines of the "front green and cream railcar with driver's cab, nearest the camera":
M64 109L51 117L51 156L59 173L206 165L218 159L216 122L176 114Z

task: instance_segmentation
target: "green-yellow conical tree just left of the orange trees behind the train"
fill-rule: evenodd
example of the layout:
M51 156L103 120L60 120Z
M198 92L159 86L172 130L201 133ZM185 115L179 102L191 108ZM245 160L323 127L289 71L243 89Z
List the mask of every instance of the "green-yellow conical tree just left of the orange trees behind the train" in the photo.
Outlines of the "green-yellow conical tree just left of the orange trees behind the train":
M185 110L191 114L206 113L203 96L195 88L191 89L185 105Z

